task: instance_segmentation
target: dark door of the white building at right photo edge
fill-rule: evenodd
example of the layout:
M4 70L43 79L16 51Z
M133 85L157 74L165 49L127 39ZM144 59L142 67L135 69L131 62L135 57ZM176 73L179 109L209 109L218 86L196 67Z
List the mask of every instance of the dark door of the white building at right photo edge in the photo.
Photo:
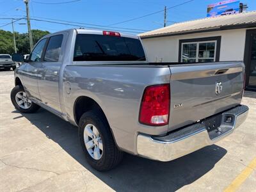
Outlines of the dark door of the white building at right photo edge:
M256 91L256 29L246 31L244 64L246 90Z

